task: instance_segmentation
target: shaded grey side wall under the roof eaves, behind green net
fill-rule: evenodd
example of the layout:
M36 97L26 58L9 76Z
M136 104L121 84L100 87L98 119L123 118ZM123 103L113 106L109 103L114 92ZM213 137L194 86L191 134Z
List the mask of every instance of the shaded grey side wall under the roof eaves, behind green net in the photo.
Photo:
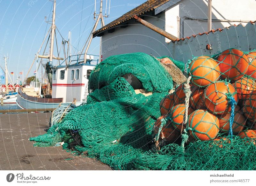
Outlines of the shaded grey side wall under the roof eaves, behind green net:
M143 19L165 30L164 13L161 13L157 17L144 16ZM103 60L112 55L131 52L144 52L156 56L161 55L158 49L165 47L164 36L156 34L153 30L134 20L129 24L126 28L116 27L115 32L105 33L102 36Z

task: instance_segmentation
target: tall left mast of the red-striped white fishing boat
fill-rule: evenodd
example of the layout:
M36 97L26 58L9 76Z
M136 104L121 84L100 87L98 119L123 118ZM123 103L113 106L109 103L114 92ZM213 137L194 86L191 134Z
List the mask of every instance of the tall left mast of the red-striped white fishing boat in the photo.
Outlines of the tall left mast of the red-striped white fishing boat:
M50 56L49 62L46 64L46 72L48 75L48 86L47 86L47 95L50 95L50 87L52 87L52 58L53 58L53 43L54 43L54 33L55 33L55 9L56 9L56 0L54 0L53 4L53 13L52 13L52 31L51 31L51 44L50 44Z

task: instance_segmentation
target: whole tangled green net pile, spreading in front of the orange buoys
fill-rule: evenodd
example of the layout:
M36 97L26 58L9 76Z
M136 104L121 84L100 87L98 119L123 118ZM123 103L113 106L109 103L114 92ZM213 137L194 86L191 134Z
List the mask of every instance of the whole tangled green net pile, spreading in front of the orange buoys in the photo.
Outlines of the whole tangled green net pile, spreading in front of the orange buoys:
M171 60L184 70L183 62ZM129 74L152 95L136 94ZM256 169L256 148L245 143L246 137L234 136L231 143L220 140L222 148L220 143L196 141L184 149L178 140L156 150L153 127L173 82L154 57L144 53L109 57L92 71L89 85L92 92L86 104L71 110L46 134L30 138L35 146L64 142L63 148L74 155L96 158L115 170Z

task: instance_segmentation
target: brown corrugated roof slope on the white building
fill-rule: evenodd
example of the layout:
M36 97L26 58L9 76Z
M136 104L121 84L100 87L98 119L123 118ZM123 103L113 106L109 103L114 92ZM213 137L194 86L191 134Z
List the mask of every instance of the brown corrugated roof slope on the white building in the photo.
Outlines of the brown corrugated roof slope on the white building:
M92 33L93 37L97 36L104 30L107 30L111 27L115 27L121 23L124 23L125 21L129 19L134 19L133 15L141 15L146 12L150 12L152 10L155 10L157 7L161 6L162 4L168 2L170 0L148 0L147 2L137 6L136 8L132 9L130 12L125 13L118 19L112 21L111 23L107 24L105 27L100 28L99 30Z

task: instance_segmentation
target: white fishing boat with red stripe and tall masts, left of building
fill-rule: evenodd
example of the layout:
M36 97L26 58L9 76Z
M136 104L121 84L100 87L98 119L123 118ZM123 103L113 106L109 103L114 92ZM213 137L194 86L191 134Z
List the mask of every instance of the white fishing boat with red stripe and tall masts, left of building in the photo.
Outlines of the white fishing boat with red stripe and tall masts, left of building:
M96 7L96 4L95 4ZM92 34L90 34L87 41L89 41L85 52L82 52L78 55L71 55L71 44L69 33L68 41L63 40L63 49L65 43L67 44L67 53L64 53L64 58L60 58L59 52L58 57L53 55L53 43L55 36L55 9L56 9L56 0L53 2L53 14L52 14L52 26L48 31L48 34L45 36L43 43L48 38L46 42L44 52L48 43L50 43L50 53L49 55L39 55L42 49L43 43L38 50L36 57L32 63L36 61L38 66L38 60L41 58L40 64L42 64L42 59L49 60L45 64L45 71L48 76L48 83L42 84L37 80L37 70L36 70L36 81L32 81L29 86L21 87L18 90L17 105L22 109L36 109L36 108L57 108L60 105L64 104L76 104L81 105L85 102L85 98L89 93L88 90L88 79L92 69L98 64L99 59L96 60L94 57L99 57L96 55L87 54L89 46L92 42ZM100 2L100 13L98 19L96 20L96 8L94 12L94 19L96 23L92 29L94 32L97 28L97 25L101 19L101 25L104 26L103 15L102 15L102 0ZM49 45L49 44L48 44ZM53 59L58 60L58 65L53 65ZM63 60L60 63L60 60ZM31 65L31 67L32 67ZM30 67L30 69L31 69ZM30 71L29 69L29 71ZM27 76L26 76L27 78ZM25 79L26 79L25 78Z

